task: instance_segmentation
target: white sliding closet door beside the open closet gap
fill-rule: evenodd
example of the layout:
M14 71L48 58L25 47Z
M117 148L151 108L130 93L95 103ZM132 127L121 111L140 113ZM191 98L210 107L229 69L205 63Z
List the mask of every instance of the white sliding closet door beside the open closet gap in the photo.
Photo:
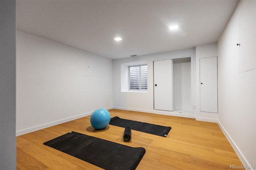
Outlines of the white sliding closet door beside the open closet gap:
M154 109L173 111L172 60L154 61Z

